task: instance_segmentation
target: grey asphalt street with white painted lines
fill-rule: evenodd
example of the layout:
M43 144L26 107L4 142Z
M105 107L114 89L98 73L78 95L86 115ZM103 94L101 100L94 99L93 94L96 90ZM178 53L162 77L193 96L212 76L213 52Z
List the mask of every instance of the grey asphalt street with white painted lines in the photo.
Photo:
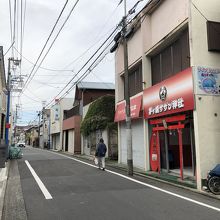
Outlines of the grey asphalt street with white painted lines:
M220 219L219 201L192 191L51 151L23 153L11 161L4 220Z

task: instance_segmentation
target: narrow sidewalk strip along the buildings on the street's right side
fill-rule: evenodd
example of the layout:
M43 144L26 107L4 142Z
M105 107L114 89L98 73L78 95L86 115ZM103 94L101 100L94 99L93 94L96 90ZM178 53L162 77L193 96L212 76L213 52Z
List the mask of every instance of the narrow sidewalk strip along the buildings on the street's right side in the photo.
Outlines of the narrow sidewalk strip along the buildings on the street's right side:
M67 154L67 153L64 153L64 154ZM92 162L94 160L93 156L87 156L87 155L74 155L73 156L73 155L70 155L70 154L67 154L67 155L72 156L72 157L77 158L77 159L84 160L84 161L87 160L87 161ZM114 168L114 169L119 169L119 170L127 173L127 166L123 165L123 164L119 164L117 161L106 159L106 167L107 168L111 167L111 168ZM208 196L208 197L213 198L213 199L220 200L220 195L214 195L211 192L208 192L206 190L199 191L199 190L196 189L195 184L191 184L187 181L185 183L180 182L178 180L179 178L170 177L171 175L169 175L167 177L166 174L158 175L158 174L155 174L155 172L153 172L153 173L152 172L144 172L143 170L137 169L137 168L134 168L133 173L136 176L141 176L141 177L145 177L145 178L148 178L148 179L160 181L160 182L163 182L163 183L167 183L167 184L170 184L170 185L173 185L173 186L176 186L176 187L184 188L184 189L187 189L187 190L190 190L190 191Z

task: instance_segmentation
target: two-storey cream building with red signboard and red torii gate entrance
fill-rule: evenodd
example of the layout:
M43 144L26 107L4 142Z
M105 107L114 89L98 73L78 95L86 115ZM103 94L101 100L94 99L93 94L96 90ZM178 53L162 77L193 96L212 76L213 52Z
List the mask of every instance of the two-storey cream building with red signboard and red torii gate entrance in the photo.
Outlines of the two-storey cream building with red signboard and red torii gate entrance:
M220 161L219 7L151 0L128 26L133 164L190 177L198 189ZM115 56L119 163L126 163L122 44Z

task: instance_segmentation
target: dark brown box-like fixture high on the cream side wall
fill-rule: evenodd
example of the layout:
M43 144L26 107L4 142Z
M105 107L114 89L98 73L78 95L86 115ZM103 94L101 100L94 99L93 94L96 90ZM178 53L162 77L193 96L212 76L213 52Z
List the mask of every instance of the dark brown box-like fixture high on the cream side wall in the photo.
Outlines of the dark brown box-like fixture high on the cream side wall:
M208 50L220 52L220 22L207 21Z

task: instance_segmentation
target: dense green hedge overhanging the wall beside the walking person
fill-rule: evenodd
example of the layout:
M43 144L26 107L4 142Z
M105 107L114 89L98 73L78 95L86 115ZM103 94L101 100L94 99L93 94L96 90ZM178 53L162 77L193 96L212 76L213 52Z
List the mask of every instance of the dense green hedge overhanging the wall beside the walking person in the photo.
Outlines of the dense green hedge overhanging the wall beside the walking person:
M88 136L96 130L117 129L114 123L115 98L114 96L103 96L95 100L81 123L81 133Z

